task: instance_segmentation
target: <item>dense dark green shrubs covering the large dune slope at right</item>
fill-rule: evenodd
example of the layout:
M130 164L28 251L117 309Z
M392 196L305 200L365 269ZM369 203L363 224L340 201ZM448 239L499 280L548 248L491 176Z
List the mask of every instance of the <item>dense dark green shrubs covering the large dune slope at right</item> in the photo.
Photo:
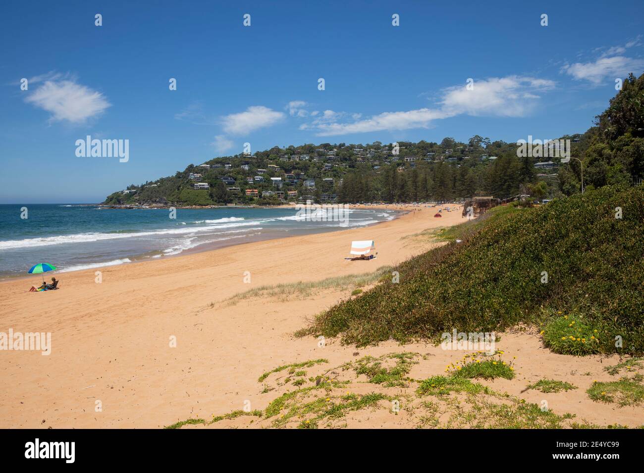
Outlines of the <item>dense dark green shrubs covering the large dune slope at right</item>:
M399 283L336 304L297 335L365 346L526 323L557 353L644 353L643 234L642 186L500 206L465 227L461 243L393 268Z

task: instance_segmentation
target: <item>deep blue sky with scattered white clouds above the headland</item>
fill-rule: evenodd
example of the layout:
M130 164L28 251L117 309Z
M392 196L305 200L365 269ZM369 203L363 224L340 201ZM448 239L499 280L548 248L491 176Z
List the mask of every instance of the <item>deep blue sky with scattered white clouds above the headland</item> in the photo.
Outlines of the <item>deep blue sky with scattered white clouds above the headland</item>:
M641 2L0 8L0 203L102 201L131 183L241 153L245 142L254 152L581 133L616 93L617 77L644 71ZM77 157L75 142L88 134L129 140L128 162Z

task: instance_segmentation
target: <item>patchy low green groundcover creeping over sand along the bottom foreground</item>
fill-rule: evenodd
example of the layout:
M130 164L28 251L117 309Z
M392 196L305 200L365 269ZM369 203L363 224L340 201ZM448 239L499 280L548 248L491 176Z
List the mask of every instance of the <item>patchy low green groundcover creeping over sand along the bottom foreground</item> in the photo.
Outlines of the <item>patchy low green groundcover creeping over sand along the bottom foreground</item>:
M497 350L494 355L488 355L489 359L485 362L498 362L503 355L507 354ZM462 361L465 366L469 366L472 362L477 364L476 360L481 357L486 355L476 353L469 361ZM526 402L519 396L499 392L473 380L513 378L513 375L509 376L504 371L493 373L485 368L488 375L479 376L480 373L466 375L465 368L451 368L448 370L450 373L445 375L432 375L423 379L409 376L412 367L429 359L421 353L394 352L380 357L361 357L330 368L311 364L312 362L286 364L267 371L258 379L258 382L276 383L283 390L267 403L265 409L213 414L209 420L190 418L169 425L166 429L177 429L184 425L337 429L355 427L374 415L378 417L370 420L372 423L382 422L418 429L628 428L627 425L618 424L598 425L578 419L573 413L555 413L543 403L539 405ZM510 362L498 365L511 367ZM310 366L318 371L321 368L323 371L315 373L308 380L300 378L302 382L294 387L279 382L279 373L285 369L297 370L300 366ZM496 369L491 367L490 370ZM621 407L638 405L643 393L640 376L635 375L618 382L594 382L588 390L589 398L598 402L616 403ZM545 394L577 388L567 382L542 379L529 385L527 389L537 389Z

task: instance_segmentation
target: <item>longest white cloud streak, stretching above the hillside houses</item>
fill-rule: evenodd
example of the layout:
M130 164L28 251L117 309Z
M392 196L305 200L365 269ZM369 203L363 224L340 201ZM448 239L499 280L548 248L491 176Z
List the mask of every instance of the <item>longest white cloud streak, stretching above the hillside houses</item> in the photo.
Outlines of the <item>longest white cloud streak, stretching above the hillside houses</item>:
M401 131L413 128L430 128L435 120L456 115L473 116L526 116L538 105L540 93L554 89L552 80L533 77L508 76L477 80L473 89L464 85L442 90L435 108L423 107L408 111L384 112L370 118L361 114L326 110L300 129L317 131L317 136L370 133L373 131ZM352 121L346 121L348 116Z

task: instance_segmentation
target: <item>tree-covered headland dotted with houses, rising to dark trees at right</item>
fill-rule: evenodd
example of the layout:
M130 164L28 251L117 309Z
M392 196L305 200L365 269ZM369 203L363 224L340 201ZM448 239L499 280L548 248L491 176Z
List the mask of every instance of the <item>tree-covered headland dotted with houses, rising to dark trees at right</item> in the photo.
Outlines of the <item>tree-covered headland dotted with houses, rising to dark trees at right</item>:
M632 184L644 177L643 117L644 75L636 79L631 74L609 107L596 116L595 126L583 134L551 138L570 140L571 156L583 162L585 189ZM109 195L105 203L224 205L296 199L394 203L475 195L504 199L530 194L539 199L580 192L580 162L563 164L560 156L548 155L553 151L547 148L519 156L516 143L478 135L466 143L448 137L440 143L273 147L191 164L175 176L129 185Z

